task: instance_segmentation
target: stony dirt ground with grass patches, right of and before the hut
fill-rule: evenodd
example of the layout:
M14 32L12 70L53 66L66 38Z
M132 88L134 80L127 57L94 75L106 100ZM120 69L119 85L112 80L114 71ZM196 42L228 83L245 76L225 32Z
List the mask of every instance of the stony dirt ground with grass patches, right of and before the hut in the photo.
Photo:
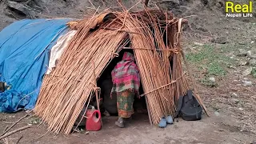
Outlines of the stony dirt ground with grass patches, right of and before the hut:
M67 2L72 3L74 9L70 9L71 5L66 2L56 1L58 6L55 7L50 6L53 4L51 2L46 5L50 13L42 12L41 15L38 14L38 18L46 18L46 15L47 18L49 15L50 17L68 15L71 18L81 18L80 14L89 10L90 2ZM193 69L194 78L197 80L199 95L210 111L210 117L203 114L202 120L197 122L179 119L178 122L174 122L174 125L167 126L165 129L150 126L147 115L143 114L135 114L134 119L123 129L114 126L116 117L109 117L103 118L102 130L98 132L70 135L46 133L46 124L38 126L40 119L29 117L19 122L14 129L27 124L31 124L32 127L11 135L11 138L16 142L23 136L20 143L63 144L256 143L255 65L248 63L254 58L238 56L239 49L256 51L255 18L226 18L223 7L219 6L217 1L210 2L206 6L202 3L206 1L182 2L184 3L181 5L162 3L161 6L174 10L178 17L190 16L187 17L190 27L184 30L182 46ZM98 6L97 3L95 6ZM0 11L0 30L14 21L16 21L15 18L6 17L6 14ZM216 38L220 38L222 42L213 42L212 40ZM252 72L243 74L243 71L250 67L253 69ZM209 78L214 78L215 81L210 82ZM244 81L252 84L244 86ZM0 134L6 126L10 126L11 122L15 122L25 114L24 111L0 114Z

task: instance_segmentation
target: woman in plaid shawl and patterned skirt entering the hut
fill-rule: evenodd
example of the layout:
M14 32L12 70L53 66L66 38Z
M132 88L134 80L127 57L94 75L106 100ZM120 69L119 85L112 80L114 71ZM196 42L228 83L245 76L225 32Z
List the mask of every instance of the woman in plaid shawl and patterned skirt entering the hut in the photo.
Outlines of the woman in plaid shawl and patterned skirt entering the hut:
M117 94L118 121L115 124L124 127L124 118L134 114L134 95L138 94L140 77L138 66L134 63L134 55L125 52L122 61L112 70L113 87L111 94Z

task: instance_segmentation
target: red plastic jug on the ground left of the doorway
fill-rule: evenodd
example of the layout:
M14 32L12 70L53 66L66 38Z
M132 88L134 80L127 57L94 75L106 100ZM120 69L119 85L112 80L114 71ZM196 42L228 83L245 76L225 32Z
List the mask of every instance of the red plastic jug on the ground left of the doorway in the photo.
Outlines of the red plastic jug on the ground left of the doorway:
M96 117L98 114L98 118ZM101 113L99 110L87 110L86 111L86 130L87 131L98 131L102 128Z

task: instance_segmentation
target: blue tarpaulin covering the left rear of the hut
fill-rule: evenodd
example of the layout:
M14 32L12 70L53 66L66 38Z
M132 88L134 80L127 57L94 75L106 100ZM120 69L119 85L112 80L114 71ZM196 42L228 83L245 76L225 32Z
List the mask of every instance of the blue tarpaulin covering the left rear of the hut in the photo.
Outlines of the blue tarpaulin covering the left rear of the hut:
M70 19L14 22L0 32L0 112L33 109L49 63L50 49L67 32Z

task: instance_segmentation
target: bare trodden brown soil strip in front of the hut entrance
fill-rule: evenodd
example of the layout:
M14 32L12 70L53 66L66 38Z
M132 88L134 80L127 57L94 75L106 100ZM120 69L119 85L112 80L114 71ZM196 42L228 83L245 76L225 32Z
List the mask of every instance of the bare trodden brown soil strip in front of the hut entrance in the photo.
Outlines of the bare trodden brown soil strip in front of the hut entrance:
M213 114L211 117L205 115L201 121L186 122L182 119L175 121L173 125L160 129L157 126L150 126L147 115L135 115L134 119L127 123L126 128L114 126L116 117L103 118L102 130L98 132L74 133L70 135L46 133L46 126L34 124L32 128L14 134L11 138L23 136L20 143L250 143L254 142L255 135L250 131L243 131L237 125L238 121L229 114L220 112L219 116ZM2 124L0 130L21 118L25 112L17 114L1 114ZM3 120L4 119L4 120ZM26 126L30 123L28 120L18 124ZM44 136L42 136L44 135ZM42 138L41 138L42 137ZM17 139L16 139L17 140Z

